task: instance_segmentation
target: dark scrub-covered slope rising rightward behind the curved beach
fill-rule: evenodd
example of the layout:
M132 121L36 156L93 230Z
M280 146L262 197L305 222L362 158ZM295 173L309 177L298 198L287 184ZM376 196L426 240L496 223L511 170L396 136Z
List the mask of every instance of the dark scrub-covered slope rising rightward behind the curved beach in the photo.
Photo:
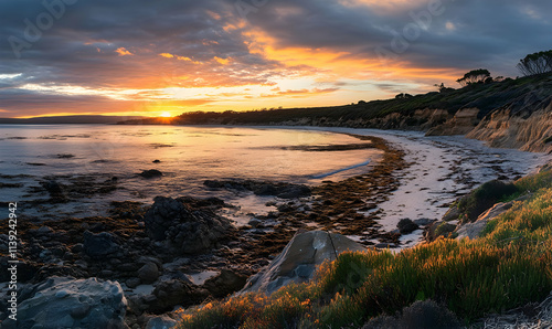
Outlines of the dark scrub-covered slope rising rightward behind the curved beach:
M287 121L300 118L326 117L331 121L338 119L373 119L391 113L412 115L416 109L446 109L456 113L460 108L477 107L480 116L492 109L508 105L513 99L527 95L531 91L550 91L551 74L506 79L490 84L476 84L460 89L448 89L444 93L433 92L416 95L412 98L372 100L344 106L312 107L312 108L284 108L270 110L256 110L245 113L188 113L179 118L179 124L209 124L216 120L221 124L268 124ZM545 86L541 88L541 86Z

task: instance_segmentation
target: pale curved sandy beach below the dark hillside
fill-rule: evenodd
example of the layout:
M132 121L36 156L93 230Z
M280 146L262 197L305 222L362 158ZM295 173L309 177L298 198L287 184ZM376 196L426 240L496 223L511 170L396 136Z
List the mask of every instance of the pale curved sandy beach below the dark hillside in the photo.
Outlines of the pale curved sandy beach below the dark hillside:
M418 131L352 128L297 129L380 137L404 151L407 166L394 172L399 178L397 189L388 195L389 200L379 203L378 209L367 213L379 217L380 230L384 232L396 230L401 219L439 220L452 202L475 187L493 179L514 180L552 159L546 153L490 148L464 136L425 137ZM423 241L422 233L416 230L402 235L397 247L416 245ZM360 236L349 236L362 242Z

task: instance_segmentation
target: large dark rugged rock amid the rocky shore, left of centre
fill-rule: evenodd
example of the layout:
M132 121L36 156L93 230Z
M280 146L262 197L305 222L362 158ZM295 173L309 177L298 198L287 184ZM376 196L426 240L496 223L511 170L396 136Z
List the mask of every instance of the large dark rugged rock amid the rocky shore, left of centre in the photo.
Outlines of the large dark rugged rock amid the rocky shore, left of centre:
M181 199L157 197L146 212L146 233L155 241L166 241L182 254L210 251L235 232L232 223L209 210L193 210Z

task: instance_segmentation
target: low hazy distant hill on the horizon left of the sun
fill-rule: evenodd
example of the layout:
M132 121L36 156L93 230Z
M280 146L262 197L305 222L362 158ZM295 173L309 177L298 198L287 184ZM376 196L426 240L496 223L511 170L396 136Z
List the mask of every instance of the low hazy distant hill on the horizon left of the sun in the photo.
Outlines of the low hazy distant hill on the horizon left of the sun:
M35 117L28 119L0 118L1 125L97 125L116 124L124 120L144 119L139 116L100 116L100 115L75 115Z

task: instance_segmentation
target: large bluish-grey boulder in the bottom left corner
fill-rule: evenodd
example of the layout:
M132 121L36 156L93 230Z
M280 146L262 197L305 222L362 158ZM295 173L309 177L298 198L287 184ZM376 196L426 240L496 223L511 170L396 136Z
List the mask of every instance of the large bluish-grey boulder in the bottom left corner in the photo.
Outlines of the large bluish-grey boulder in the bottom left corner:
M17 328L127 328L125 311L118 283L52 277L19 305Z

